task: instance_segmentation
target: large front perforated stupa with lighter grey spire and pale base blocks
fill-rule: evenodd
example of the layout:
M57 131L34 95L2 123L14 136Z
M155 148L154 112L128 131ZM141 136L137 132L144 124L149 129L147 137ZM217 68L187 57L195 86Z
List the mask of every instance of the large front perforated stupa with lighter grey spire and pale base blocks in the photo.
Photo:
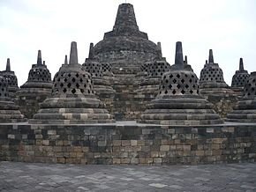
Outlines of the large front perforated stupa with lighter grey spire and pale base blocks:
M84 124L115 122L94 95L92 76L78 63L77 43L72 42L69 64L53 80L51 97L41 103L32 124Z

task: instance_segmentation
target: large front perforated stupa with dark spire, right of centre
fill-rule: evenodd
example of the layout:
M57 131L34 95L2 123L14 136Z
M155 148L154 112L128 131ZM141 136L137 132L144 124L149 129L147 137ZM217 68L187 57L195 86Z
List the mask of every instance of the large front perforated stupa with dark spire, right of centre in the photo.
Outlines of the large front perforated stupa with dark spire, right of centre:
M138 122L169 125L222 123L213 106L199 94L199 79L184 63L182 44L177 42L175 64L162 75L159 93Z

